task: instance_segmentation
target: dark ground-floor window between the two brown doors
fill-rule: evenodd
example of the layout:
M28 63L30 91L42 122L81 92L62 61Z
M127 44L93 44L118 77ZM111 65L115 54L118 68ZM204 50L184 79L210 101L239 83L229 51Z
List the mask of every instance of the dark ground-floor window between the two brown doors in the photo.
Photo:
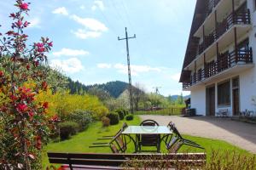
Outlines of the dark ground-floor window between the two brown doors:
M218 84L218 105L230 105L230 81Z

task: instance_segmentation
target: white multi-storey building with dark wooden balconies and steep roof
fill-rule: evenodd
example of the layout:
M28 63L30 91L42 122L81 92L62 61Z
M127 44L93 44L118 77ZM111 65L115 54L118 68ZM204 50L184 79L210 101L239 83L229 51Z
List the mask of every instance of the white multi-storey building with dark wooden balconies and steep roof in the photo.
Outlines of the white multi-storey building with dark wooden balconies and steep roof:
M180 82L197 115L256 111L256 0L197 0Z

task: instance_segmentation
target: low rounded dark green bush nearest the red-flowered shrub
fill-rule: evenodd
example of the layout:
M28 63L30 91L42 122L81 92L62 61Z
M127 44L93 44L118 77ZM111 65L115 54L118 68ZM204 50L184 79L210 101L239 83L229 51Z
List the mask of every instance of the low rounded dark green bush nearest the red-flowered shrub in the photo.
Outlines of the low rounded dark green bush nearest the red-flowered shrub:
M59 127L61 140L69 139L71 135L79 132L79 123L77 122L61 122Z

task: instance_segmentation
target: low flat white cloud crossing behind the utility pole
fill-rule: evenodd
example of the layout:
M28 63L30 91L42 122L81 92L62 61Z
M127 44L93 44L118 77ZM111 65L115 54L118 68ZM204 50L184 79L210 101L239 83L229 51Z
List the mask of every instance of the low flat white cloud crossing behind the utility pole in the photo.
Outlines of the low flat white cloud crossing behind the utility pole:
M113 65L113 67L117 69L119 72L127 74L127 65L115 64ZM149 71L160 72L161 69L157 67L150 67L148 65L131 65L131 74L133 76L137 76L138 73L149 72Z

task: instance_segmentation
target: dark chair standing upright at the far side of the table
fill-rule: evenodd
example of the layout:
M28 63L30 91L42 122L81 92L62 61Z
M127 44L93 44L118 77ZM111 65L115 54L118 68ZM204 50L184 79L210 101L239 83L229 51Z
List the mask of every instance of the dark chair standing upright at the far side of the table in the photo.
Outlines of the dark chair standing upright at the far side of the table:
M159 126L158 122L154 120L145 120L141 122L140 126ZM141 151L157 151L160 152L160 135L159 134L142 134L137 136L138 150ZM142 150L142 146L155 146L157 150Z

